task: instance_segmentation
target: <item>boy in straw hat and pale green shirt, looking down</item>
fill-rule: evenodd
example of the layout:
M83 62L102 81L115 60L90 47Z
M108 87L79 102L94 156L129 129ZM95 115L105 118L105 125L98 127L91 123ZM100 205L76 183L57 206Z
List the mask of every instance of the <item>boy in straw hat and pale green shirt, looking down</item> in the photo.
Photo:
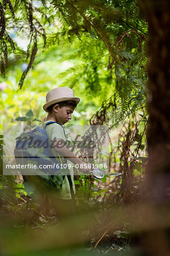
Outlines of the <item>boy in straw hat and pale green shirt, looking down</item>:
M47 93L46 96L47 103L43 106L45 112L48 113L45 122L40 126L44 126L45 123L49 121L58 122L51 123L47 125L46 131L48 134L49 141L53 142L53 147L51 148L51 153L56 157L59 164L69 163L69 175L63 176L63 183L61 189L57 189L55 196L57 198L57 204L60 201L60 209L58 208L58 214L64 216L67 215L67 210L65 208L71 207L73 209L72 193L75 193L74 181L73 181L73 164L78 164L78 166L84 167L84 162L82 162L77 156L73 154L69 148L65 145L65 133L62 125L67 123L69 119L72 119L72 113L74 108L80 102L80 98L74 97L73 90L67 87L59 87L52 89ZM59 124L60 123L60 124ZM57 146L60 145L60 146ZM69 160L70 159L70 160ZM89 171L87 168L81 168L81 172ZM71 188L72 187L72 188ZM73 211L73 210L72 210Z

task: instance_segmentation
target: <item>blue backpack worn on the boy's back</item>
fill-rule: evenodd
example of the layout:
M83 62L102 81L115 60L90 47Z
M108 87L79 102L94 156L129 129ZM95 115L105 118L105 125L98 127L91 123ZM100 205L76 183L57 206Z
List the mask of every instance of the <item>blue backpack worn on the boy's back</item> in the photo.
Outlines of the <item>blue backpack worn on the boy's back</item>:
M53 176L55 174L57 175L59 174L60 164L55 158L55 156L52 155L50 142L49 142L47 131L46 131L47 125L50 125L51 123L58 123L58 122L50 121L48 123L45 123L43 128L36 126L34 130L28 131L27 133L20 134L19 137L16 138L14 155L15 155L15 160L17 164L30 163L30 166L31 164L36 164L37 168L41 172L43 172L44 175L47 175L47 177L50 176L53 179ZM58 124L61 125L60 123ZM65 134L65 131L64 131L64 134ZM48 166L48 168L40 169L39 168L40 166ZM53 168L53 166L55 166L55 168ZM31 167L30 167L30 170L31 170ZM38 175L37 170L36 170L36 173ZM24 170L22 174L24 174Z

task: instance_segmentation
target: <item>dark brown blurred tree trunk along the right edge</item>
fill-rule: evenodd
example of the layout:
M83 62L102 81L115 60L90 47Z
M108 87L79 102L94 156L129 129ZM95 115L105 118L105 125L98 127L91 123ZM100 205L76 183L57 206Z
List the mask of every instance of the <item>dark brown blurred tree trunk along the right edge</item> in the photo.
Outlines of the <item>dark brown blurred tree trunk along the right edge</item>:
M139 5L149 30L147 71L150 126L147 133L147 199L155 209L165 209L170 196L170 1L140 0ZM168 255L167 230L157 227L150 230L150 238L153 236L155 242L146 242L147 253L150 251L150 255ZM161 240L164 242L161 243Z

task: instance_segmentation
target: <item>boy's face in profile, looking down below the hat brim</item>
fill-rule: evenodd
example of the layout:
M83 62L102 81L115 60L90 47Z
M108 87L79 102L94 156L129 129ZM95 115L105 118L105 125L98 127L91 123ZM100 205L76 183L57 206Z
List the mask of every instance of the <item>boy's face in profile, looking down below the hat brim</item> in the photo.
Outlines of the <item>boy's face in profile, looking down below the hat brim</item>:
M72 119L74 107L72 105L67 105L60 108L60 106L56 104L53 107L53 110L55 111L57 122L61 123L61 125L64 125L64 123L67 123L69 119Z

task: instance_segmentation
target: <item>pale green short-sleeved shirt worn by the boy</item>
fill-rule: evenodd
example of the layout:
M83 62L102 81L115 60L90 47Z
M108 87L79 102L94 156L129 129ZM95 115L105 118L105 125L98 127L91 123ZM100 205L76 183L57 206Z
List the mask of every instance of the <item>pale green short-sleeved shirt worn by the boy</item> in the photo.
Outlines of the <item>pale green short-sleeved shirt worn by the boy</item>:
M40 125L40 128L43 128L45 123L48 123L50 121L45 121ZM63 139L63 141L66 141L65 135L64 135L64 130L61 125L58 123L51 123L50 125L47 125L46 127L47 135L49 138L49 142L51 143L53 139ZM64 158L61 156L55 148L51 148L52 155L56 157L57 161L59 164L64 164ZM69 160L67 160L67 164L71 163L71 166L73 163ZM73 191L75 193L75 186L74 186L74 180L73 180L73 167L69 168L69 173L71 175L71 180L72 180L72 185L73 185ZM64 199L64 200L69 200L72 199L71 196L71 189L68 181L68 177L64 176L63 183L61 185L61 189L57 189L56 191L56 197L58 199Z

